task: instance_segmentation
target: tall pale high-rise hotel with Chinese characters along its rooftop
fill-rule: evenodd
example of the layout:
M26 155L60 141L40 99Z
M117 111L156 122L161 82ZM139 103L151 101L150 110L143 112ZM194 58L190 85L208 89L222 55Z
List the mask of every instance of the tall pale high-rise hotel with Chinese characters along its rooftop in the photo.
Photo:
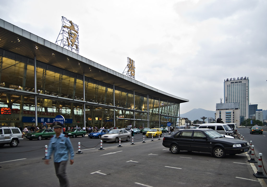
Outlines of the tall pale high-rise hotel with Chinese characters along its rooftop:
M239 103L240 117L249 118L249 79L237 77L224 81L224 103ZM241 122L241 121L240 121Z

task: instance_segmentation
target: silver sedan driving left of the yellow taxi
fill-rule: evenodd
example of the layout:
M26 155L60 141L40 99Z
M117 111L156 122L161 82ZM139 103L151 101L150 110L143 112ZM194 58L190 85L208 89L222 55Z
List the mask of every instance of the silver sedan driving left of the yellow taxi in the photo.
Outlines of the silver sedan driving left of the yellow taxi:
M131 139L131 133L125 129L112 129L107 134L101 136L103 142L119 142L121 140L129 141Z

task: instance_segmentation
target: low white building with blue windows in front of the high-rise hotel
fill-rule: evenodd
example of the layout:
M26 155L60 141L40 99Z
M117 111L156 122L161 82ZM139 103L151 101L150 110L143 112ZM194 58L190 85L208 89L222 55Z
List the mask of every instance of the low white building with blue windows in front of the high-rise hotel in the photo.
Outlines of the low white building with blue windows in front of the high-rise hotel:
M238 102L235 103L217 103L216 119L221 118L224 123L236 123L240 125L240 110Z

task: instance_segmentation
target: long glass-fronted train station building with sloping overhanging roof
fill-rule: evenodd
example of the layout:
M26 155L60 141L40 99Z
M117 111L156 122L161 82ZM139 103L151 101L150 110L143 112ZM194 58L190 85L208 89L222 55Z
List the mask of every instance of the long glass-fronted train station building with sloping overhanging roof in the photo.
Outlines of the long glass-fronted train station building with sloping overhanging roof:
M176 126L184 102L0 19L0 126Z

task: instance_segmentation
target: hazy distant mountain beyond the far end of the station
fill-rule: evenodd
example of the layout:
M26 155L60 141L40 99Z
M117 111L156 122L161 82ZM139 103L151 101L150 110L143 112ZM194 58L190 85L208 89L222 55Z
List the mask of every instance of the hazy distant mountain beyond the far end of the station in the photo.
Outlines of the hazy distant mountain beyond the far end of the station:
M180 114L180 117L182 118L188 118L192 122L196 119L199 121L202 121L202 117L205 116L206 118L215 118L215 111L205 110L202 108L194 108L193 110L190 110L189 112L186 112L184 114ZM208 119L205 119L207 121ZM216 119L215 119L216 120Z

